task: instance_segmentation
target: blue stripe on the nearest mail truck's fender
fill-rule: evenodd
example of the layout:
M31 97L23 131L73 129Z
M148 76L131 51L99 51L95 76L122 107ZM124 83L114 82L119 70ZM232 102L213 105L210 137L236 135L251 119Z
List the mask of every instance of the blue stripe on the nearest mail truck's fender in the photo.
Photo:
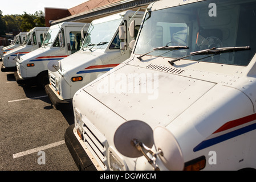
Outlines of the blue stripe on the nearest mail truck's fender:
M247 132L255 130L255 129L256 129L256 123L254 123L253 125L249 125L249 126L241 128L241 129L235 130L235 131L231 131L230 133L226 133L219 137L205 140L205 141L201 142L200 144L198 144L196 147L194 147L193 151L196 152L196 151L202 150L206 147L213 146L214 144L223 142L230 138L237 137L238 135L242 135L244 133L247 133Z

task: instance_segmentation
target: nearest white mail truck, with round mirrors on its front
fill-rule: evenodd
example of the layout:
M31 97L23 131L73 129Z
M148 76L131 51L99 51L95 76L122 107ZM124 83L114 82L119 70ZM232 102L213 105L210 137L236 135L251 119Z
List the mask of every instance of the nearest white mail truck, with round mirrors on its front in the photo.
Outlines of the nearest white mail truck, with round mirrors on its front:
M256 169L256 1L162 0L131 57L75 93L80 169Z

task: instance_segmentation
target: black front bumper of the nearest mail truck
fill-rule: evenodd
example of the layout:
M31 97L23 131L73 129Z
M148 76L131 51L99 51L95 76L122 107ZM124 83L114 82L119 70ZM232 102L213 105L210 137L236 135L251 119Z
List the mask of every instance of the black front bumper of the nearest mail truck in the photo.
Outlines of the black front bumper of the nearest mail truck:
M78 139L75 137L73 132L75 124L69 126L64 134L65 143L67 145L70 154L72 155L76 166L80 171L96 171L94 164L88 157L83 147L79 143Z

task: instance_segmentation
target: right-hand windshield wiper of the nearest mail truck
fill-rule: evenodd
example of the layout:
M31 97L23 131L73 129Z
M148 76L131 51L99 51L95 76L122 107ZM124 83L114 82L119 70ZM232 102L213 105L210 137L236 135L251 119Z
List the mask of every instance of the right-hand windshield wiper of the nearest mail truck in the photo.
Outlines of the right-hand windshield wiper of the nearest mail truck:
M178 60L184 59L184 58L189 57L189 56L194 56L194 55L218 54L218 53L222 53L222 52L239 51L239 50L244 50L244 49L250 49L250 46L244 46L244 47L220 47L220 48L213 47L213 48L205 49L205 50L202 50L202 51L190 52L190 54L188 56L179 57L179 58L174 59L172 61L168 61L168 63L173 65L174 62L176 62Z

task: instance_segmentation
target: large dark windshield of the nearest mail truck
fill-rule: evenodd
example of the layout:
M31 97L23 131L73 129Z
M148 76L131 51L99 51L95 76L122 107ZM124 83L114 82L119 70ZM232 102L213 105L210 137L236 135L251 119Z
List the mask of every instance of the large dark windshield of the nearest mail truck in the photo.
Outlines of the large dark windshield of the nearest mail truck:
M135 53L246 66L256 51L253 22L256 22L255 0L202 1L151 11L146 14ZM152 51L161 46L188 46L188 49ZM230 49L214 51L212 55L193 53L212 48Z

